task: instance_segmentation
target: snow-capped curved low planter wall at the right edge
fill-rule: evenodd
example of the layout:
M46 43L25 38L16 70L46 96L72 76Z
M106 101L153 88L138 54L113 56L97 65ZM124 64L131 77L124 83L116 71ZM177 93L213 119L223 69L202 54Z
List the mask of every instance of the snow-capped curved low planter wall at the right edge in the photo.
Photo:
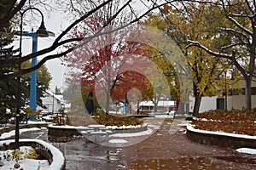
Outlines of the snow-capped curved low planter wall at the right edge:
M195 142L201 144L212 144L220 147L230 148L255 148L256 137L233 134L233 133L218 133L193 128L191 125L187 126L187 137Z

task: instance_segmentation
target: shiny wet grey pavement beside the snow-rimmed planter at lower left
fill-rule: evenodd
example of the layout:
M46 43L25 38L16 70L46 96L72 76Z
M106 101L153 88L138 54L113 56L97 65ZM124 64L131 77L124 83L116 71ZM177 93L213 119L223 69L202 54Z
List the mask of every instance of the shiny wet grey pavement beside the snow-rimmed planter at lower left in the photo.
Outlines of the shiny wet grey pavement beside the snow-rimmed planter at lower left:
M55 143L67 158L66 169L126 169L119 160L122 149L108 148L85 141Z

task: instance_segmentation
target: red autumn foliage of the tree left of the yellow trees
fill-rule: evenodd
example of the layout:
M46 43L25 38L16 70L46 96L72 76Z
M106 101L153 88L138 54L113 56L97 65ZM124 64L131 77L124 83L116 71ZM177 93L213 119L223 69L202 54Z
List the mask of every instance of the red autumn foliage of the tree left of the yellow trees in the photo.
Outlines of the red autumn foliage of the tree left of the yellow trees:
M79 48L65 56L65 60L67 66L73 68L67 81L80 82L84 94L94 92L99 98L107 96L109 105L110 97L122 101L130 89L149 87L150 83L144 80L151 74L148 68L152 67L152 62L139 48L141 44L131 41L132 37L140 34L136 26L113 31L113 23L102 31L100 28L104 20L101 16L91 16L84 20L83 26L73 30L75 37L99 31L109 33L90 42L84 39L84 44L76 44Z

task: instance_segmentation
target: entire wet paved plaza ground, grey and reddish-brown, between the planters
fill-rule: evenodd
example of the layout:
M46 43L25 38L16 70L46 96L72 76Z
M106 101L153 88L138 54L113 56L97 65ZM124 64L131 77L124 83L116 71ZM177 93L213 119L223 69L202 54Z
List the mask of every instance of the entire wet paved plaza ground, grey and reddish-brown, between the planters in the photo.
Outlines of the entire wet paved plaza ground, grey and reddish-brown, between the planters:
M174 122L146 118L148 128L154 133L148 136L123 137L137 144L122 147L104 146L80 138L67 143L52 143L67 159L66 169L255 169L256 156L198 144L186 137L185 120ZM21 133L20 138L48 141L47 129Z

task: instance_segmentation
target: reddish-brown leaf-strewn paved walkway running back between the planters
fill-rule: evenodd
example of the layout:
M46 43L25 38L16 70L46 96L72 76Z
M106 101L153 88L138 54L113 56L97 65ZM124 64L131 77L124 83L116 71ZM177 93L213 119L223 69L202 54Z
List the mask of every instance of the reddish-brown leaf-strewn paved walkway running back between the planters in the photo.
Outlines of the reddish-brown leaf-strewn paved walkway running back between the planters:
M255 156L236 150L197 144L187 139L184 119L164 122L148 139L124 148L120 159L127 169L253 169Z

